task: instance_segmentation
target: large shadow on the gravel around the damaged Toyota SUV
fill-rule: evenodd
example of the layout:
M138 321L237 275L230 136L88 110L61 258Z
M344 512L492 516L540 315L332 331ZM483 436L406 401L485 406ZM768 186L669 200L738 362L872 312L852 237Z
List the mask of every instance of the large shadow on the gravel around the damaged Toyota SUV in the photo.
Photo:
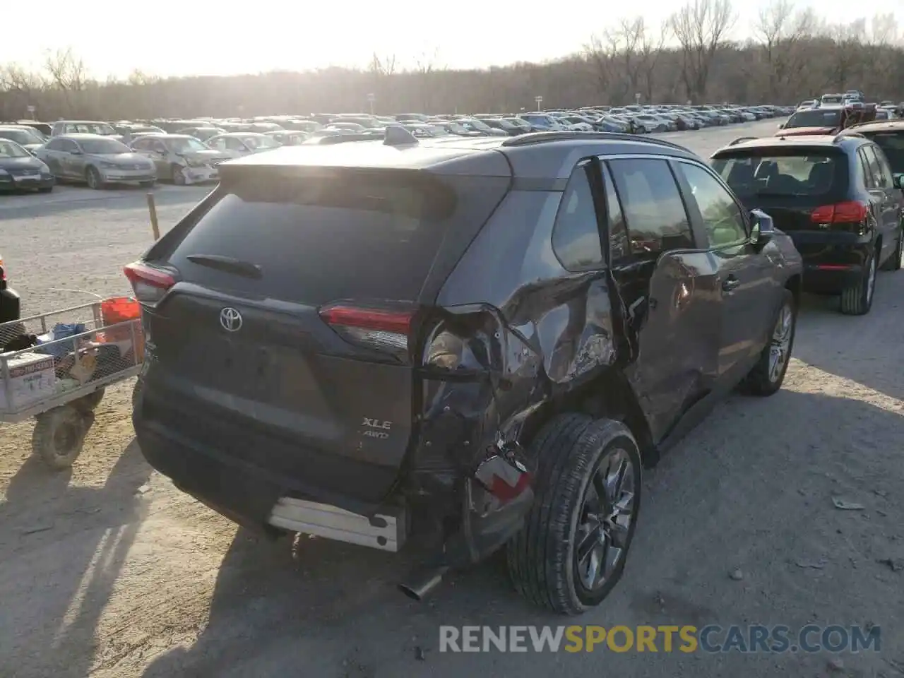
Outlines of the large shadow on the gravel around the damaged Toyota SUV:
M831 430L806 428L806 419L831 422ZM647 474L626 579L579 623L895 626L900 579L876 560L901 551L904 541L893 540L902 507L872 491L889 497L904 479L900 431L898 415L860 400L795 391L732 398ZM837 510L835 494L868 511ZM879 504L883 511L873 513ZM735 567L742 581L727 576ZM563 669L589 677L601 666L649 678L809 676L826 663L824 655L799 654L439 654L443 624L575 622L524 604L498 557L458 574L425 603L394 591L399 570L400 559L377 551L305 537L293 548L240 531L202 636L159 655L144 677L539 678ZM862 672L873 660L845 659L851 668L833 675L871 675Z

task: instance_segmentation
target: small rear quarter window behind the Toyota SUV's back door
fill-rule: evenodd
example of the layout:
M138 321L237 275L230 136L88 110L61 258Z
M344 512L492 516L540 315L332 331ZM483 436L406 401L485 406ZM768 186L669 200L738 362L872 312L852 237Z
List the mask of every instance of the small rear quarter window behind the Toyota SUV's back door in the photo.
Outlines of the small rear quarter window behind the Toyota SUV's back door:
M592 270L603 264L589 171L589 163L581 163L571 173L552 227L552 250L570 271Z

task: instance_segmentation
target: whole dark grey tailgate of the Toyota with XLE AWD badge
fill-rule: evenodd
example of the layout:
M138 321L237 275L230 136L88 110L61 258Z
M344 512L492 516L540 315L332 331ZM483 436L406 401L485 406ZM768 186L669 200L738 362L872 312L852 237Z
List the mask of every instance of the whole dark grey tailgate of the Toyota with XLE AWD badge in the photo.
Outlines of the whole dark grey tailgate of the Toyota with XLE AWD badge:
M501 194L479 209L472 196L499 184L241 171L148 255L179 282L146 313L141 416L278 478L379 501L409 445L421 288L447 232L479 228Z

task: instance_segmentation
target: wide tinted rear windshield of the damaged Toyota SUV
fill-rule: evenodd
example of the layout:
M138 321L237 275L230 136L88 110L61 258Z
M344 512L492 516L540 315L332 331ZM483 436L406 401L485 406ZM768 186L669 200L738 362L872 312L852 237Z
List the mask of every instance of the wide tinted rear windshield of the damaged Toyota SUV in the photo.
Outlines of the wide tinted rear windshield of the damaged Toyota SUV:
M305 304L417 300L449 229L476 232L508 185L488 177L355 173L223 184L219 200L175 245L184 279ZM476 225L476 226L475 226ZM258 265L258 279L191 255Z

